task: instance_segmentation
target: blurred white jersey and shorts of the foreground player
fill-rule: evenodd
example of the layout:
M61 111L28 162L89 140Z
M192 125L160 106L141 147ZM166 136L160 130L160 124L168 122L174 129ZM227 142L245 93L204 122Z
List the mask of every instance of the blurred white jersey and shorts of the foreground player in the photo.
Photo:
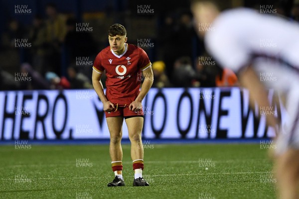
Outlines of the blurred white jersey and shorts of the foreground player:
M280 148L299 148L299 24L237 8L222 12L211 26L205 45L222 67L238 73L252 65L262 83L287 95L288 137Z

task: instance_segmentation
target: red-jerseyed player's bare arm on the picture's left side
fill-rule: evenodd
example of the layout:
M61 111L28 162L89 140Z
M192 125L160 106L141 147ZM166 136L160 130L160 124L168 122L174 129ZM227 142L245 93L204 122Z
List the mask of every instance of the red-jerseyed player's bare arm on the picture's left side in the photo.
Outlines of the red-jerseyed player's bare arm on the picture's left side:
M104 94L104 88L103 84L101 82L103 73L98 73L97 71L92 71L92 85L94 87L94 90L98 94L100 100L103 103L104 111L111 112L114 108L114 104L107 100L105 94Z

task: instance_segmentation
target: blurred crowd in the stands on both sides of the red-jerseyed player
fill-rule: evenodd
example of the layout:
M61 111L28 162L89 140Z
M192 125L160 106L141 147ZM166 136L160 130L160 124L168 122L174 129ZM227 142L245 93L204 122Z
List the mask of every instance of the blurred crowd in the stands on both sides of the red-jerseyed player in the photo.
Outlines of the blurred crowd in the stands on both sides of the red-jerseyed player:
M10 65L0 64L0 90L92 89L92 65L82 67L76 61L78 57L93 61L102 46L99 48L90 32L78 32L78 20L59 13L55 4L47 4L45 15L45 18L35 15L32 25L27 28L16 19L8 21L7 29L1 35L0 59ZM199 47L203 50L192 60L194 38L198 40L193 18L188 11L177 15L166 14L157 30L156 46L162 54L157 60L151 60L153 87L238 86L237 76L220 68L205 53L201 39ZM293 5L291 16L291 20L299 21L299 2ZM15 38L27 38L31 44L25 55L15 47ZM25 56L27 61L20 64L20 56ZM61 70L62 57L68 66L65 71ZM15 73L26 74L24 76L30 77L30 81L16 81Z

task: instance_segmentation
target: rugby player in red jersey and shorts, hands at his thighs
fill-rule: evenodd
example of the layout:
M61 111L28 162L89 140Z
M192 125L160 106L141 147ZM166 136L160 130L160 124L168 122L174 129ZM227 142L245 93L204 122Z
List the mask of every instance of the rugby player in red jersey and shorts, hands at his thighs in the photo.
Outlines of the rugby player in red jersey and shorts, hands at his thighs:
M144 149L141 132L144 123L142 100L153 83L151 63L143 49L126 43L127 31L123 25L110 26L108 39L110 46L97 55L92 74L92 83L103 102L110 132L110 157L115 179L108 184L108 187L125 186L121 146L124 119L131 141L131 157L135 171L133 186L149 186L142 177ZM107 76L106 95L101 83L104 71ZM142 87L141 74L145 77Z

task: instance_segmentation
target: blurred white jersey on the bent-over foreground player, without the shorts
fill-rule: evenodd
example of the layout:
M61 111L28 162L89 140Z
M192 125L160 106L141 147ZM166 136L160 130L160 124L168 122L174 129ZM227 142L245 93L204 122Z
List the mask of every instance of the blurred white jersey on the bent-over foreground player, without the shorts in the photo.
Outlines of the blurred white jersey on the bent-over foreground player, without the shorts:
M286 61L299 70L299 25L248 8L221 13L207 32L208 51L221 65L234 71L251 63L253 56Z

